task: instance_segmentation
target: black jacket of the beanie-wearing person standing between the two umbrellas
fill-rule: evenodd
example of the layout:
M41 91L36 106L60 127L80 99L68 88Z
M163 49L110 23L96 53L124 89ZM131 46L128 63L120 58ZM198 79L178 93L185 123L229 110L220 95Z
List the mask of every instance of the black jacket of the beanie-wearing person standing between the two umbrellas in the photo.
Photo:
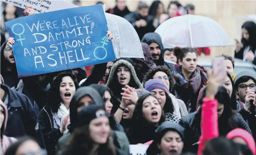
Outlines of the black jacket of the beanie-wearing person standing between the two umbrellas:
M146 18L144 18L137 11L134 11L124 16L124 19L128 20L128 22L132 24L132 26L138 33L139 40L141 40L146 33L155 31L155 27L153 26L153 18L151 16L147 16ZM146 20L147 22L146 27L138 28L136 26L135 22L139 21L140 19Z

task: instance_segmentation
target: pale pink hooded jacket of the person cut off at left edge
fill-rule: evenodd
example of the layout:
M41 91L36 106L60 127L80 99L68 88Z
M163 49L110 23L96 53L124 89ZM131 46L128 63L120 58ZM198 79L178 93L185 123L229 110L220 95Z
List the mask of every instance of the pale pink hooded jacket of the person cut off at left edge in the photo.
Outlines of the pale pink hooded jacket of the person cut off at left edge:
M8 112L7 112L7 108L4 105L2 100L0 100L0 106L2 108L4 108L4 123L1 126L1 132L3 132L5 130L5 128L6 128L6 125L7 125ZM2 129L3 127L4 127L4 129ZM15 139L14 137L9 137L8 138L8 137L3 135L3 138L0 141L1 153L3 153L3 154L7 150L7 148L10 146L10 140L9 139L12 141L12 143L15 143L17 141L17 139Z

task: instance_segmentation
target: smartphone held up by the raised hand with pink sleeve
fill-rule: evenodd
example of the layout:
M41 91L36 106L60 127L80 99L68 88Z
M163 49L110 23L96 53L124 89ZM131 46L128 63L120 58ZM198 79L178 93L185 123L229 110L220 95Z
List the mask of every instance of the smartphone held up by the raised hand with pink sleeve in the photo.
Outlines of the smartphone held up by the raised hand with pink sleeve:
M227 75L224 57L216 57L212 60L212 72L217 73L220 76Z

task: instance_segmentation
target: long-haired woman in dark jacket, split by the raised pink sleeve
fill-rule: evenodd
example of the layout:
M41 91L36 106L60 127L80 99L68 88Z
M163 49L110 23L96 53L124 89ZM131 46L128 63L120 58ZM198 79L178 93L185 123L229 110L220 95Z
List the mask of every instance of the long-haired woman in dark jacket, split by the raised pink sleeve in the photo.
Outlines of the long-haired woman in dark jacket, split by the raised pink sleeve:
M201 98L199 100L200 105L205 102L203 98L208 97L206 96L207 89L208 87L206 86L205 90L203 90L201 94ZM217 117L219 136L226 136L228 132L235 128L242 128L247 130L249 133L252 133L242 116L231 109L230 105L232 103L230 101L230 95L225 87L219 87L216 95L214 95L214 98L218 103L216 107L218 111ZM193 112L183 117L179 122L179 124L185 128L185 143L183 148L184 151L191 151L197 153L198 140L202 132L201 115L202 108L197 110L197 112Z

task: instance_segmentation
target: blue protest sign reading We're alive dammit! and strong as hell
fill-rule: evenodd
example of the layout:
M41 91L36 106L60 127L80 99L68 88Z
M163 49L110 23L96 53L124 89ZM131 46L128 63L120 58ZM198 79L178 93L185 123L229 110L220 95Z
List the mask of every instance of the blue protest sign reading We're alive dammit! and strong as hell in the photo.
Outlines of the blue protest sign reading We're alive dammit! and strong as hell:
M5 23L19 77L115 59L102 5L34 14Z

